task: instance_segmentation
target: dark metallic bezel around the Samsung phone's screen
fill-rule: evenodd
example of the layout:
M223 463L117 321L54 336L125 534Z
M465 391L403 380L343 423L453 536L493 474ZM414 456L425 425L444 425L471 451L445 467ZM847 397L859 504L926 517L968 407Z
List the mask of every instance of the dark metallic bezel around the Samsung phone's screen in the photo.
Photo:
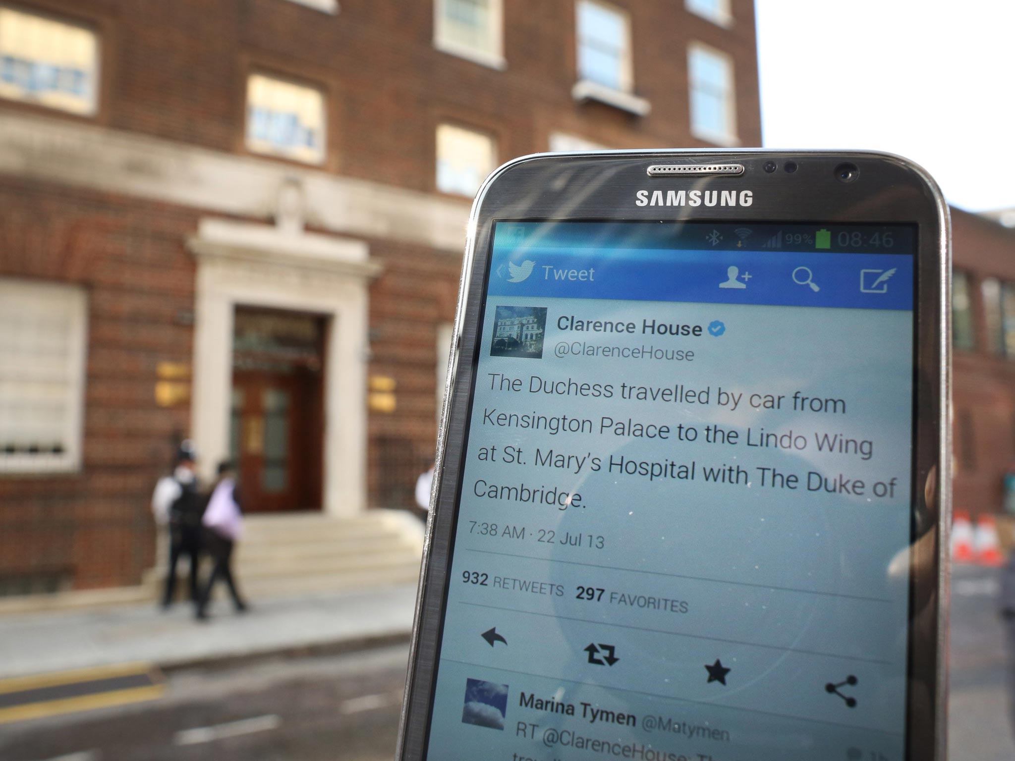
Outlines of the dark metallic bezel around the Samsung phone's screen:
M765 172L792 158L794 174ZM845 184L834 167L861 170ZM738 162L739 176L649 177L659 163ZM637 207L635 190L752 190L747 208ZM951 526L951 270L948 206L919 165L873 151L656 150L523 156L495 170L472 207L438 426L409 671L396 758L425 758L430 700L445 610L462 455L477 360L492 223L496 219L628 219L916 223L918 225L913 372L913 542L910 545L909 685L906 758L947 752L948 534Z

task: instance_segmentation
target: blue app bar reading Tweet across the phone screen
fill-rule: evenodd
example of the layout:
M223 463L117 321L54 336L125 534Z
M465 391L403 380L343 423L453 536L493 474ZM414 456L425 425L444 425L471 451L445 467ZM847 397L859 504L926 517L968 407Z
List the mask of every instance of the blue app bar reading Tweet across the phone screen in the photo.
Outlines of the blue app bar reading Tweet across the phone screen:
M632 235L635 225L621 240L582 239L570 224L498 223L489 294L912 309L913 258L906 254L662 248L649 240L657 223L644 223L644 245Z

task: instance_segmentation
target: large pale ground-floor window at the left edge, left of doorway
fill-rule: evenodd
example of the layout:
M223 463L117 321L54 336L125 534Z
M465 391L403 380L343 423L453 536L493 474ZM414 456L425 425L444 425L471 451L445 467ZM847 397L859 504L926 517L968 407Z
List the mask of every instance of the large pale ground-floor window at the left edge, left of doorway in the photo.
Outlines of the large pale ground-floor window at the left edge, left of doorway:
M0 473L81 462L84 291L0 278Z

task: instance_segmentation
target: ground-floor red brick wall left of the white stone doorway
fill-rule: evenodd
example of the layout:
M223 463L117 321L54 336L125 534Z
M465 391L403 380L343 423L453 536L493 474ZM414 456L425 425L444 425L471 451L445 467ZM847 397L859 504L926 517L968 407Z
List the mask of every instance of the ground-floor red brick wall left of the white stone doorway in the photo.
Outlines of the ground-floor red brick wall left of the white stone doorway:
M195 228L178 208L0 179L0 277L88 297L83 467L0 478L0 578L108 586L151 566L151 490L190 426L189 406L155 406L156 365L191 362Z

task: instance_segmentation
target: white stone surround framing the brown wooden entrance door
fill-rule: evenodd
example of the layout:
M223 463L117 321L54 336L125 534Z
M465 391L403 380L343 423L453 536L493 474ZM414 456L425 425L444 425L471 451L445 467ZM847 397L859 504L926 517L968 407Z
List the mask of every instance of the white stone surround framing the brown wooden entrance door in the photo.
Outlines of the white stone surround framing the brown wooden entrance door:
M288 216L280 210L276 226L202 219L189 240L197 259L191 435L210 477L229 455L236 305L328 318L321 508L348 517L366 508L367 287L382 268L363 241L306 232L298 203Z

